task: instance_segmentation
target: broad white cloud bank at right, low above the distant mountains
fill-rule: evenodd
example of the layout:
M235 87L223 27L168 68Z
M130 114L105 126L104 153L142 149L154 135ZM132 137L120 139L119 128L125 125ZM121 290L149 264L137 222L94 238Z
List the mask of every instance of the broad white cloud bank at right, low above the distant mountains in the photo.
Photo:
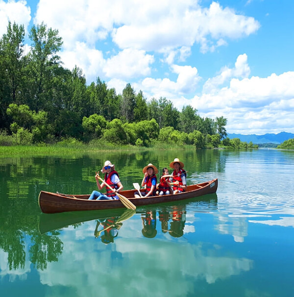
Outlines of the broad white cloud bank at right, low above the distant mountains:
M293 80L293 71L264 78L232 78L228 87L196 96L191 105L205 116L224 115L228 119L228 132L292 132L289 119L294 113Z

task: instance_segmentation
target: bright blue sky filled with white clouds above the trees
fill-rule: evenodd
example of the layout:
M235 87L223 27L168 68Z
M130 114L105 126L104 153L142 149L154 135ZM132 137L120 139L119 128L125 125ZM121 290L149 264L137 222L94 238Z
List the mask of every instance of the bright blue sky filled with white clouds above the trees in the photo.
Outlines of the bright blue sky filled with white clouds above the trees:
M294 1L0 0L8 20L58 29L63 66L122 93L227 118L228 133L294 133Z

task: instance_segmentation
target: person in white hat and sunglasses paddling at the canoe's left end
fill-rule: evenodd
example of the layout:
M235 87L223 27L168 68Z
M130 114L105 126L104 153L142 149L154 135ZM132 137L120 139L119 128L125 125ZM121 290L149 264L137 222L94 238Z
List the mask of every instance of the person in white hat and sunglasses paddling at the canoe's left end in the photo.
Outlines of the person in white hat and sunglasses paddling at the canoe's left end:
M119 199L116 193L123 189L123 184L121 183L119 174L115 171L114 165L109 160L105 161L101 172L105 173L103 183L99 183L99 174L97 172L95 175L98 189L101 190L104 186L106 186L106 183L109 184L112 189L106 187L106 194L93 191L89 197L89 200Z

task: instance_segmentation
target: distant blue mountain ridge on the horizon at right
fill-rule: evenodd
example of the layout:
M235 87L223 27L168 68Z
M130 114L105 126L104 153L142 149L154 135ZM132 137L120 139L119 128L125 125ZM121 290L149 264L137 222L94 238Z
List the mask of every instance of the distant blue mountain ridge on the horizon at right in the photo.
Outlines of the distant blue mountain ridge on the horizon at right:
M254 144L262 144L262 143L280 144L285 140L293 138L294 134L288 133L288 132L280 132L278 134L267 133L264 135L256 135L256 134L243 135L243 134L228 133L227 137L229 137L230 139L239 138L243 142L252 141Z

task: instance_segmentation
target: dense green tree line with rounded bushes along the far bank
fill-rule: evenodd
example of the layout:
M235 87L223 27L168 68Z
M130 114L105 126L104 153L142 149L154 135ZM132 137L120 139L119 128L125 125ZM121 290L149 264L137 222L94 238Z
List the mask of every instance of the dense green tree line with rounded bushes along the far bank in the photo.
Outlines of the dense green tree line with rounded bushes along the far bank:
M0 39L2 142L54 143L74 138L87 143L149 146L160 142L202 148L229 141L223 116L200 117L190 105L178 111L163 97L147 101L130 84L122 94L99 77L87 85L82 69L62 66L58 30L44 23L33 25L27 53L24 38L24 25L9 22Z

